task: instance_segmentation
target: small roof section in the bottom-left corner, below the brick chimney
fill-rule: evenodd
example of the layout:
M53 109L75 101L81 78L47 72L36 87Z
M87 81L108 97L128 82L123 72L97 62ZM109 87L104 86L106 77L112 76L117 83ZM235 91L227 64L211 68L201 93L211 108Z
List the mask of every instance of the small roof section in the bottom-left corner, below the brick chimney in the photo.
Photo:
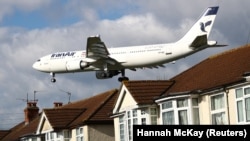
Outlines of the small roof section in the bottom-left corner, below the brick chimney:
M25 125L24 122L19 123L12 129L10 129L9 134L7 134L3 139L1 139L1 141L18 141L19 137L22 137L24 135L35 134L39 120L40 120L40 114L29 124Z

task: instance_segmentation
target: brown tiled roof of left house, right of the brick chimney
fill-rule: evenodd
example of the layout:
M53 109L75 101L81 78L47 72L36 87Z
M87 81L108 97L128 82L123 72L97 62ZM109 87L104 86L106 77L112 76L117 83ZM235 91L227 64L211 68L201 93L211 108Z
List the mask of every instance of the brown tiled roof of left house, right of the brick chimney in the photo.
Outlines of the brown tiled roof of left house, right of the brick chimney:
M113 123L109 113L112 112L117 92L117 89L109 90L61 107L45 109L44 112L54 129L73 128L91 122Z

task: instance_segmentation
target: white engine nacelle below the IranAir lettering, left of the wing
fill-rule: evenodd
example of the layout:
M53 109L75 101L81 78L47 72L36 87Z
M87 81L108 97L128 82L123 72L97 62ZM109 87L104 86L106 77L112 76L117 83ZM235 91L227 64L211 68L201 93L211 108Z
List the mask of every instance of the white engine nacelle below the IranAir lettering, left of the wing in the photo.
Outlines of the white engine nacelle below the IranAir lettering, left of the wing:
M88 63L82 60L68 61L66 64L67 71L78 71L88 67Z

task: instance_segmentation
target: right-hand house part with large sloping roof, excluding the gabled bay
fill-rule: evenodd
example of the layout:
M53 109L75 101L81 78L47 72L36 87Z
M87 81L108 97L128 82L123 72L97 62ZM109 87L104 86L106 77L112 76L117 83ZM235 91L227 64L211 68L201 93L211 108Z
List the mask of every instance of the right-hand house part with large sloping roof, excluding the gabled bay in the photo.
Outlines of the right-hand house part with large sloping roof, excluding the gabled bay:
M249 124L249 56L250 45L231 49L170 79L159 124Z

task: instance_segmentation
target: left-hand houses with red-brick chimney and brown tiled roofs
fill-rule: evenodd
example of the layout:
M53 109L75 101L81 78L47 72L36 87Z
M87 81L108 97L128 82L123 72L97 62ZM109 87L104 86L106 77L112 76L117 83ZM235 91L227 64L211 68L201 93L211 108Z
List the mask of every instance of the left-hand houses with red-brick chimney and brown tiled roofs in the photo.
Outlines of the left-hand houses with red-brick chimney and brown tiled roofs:
M36 103L28 102L24 110L25 121L9 131L0 132L0 140L112 141L114 124L110 114L117 92L112 89L66 105L55 102L54 108L43 109L41 113Z

